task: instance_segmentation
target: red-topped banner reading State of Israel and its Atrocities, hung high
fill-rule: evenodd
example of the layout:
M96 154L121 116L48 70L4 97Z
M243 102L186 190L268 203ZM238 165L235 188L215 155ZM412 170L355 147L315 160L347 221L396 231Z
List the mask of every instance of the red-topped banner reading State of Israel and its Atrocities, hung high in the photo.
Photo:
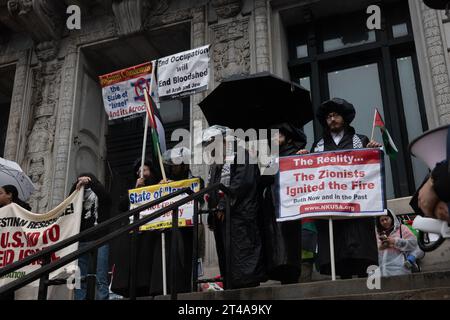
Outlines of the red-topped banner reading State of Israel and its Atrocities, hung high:
M152 72L153 64L148 62L99 77L109 120L146 111L144 88L150 92Z

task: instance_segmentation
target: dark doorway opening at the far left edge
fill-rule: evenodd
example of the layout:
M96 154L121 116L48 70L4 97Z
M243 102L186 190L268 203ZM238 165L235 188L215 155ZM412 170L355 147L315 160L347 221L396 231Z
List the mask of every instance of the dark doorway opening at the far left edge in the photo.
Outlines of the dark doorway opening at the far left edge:
M4 156L15 67L0 68L0 157Z

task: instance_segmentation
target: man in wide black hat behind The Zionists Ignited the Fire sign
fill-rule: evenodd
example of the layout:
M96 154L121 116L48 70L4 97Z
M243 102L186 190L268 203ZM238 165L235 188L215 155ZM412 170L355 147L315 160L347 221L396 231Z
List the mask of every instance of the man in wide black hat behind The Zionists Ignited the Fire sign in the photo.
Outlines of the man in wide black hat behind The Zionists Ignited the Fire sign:
M344 99L334 98L322 103L317 118L324 128L323 137L314 143L312 152L379 148L382 145L357 134L350 123L355 108ZM328 222L317 222L318 263L320 273L331 274ZM373 218L337 220L333 223L336 274L342 279L367 276L367 267L378 265L378 250Z

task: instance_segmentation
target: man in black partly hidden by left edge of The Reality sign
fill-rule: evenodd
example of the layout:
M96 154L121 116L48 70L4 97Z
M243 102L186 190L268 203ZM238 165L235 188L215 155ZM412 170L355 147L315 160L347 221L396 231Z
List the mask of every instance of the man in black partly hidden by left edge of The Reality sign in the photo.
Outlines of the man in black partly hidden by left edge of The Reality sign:
M298 154L306 146L303 130L290 123L280 123L271 129L279 130L274 143L279 145L280 157ZM270 279L282 284L296 283L301 271L302 223L300 220L276 221L274 183L273 175L261 176L262 229L267 272Z

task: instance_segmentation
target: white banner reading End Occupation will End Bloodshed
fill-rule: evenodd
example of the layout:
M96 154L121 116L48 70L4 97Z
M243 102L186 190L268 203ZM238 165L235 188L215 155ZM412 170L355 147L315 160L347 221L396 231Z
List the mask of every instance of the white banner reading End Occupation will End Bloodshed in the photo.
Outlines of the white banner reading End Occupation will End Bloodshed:
M158 95L161 100L208 89L209 45L158 60Z

